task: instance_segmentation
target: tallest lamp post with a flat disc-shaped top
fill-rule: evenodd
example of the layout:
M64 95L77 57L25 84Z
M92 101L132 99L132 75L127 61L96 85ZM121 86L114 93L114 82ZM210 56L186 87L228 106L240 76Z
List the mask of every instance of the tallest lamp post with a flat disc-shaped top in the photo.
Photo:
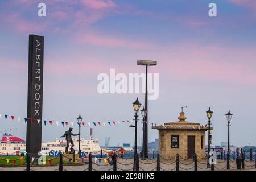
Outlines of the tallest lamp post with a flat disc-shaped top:
M157 61L151 61L151 60L138 60L137 61L137 65L141 65L141 66L146 66L146 93L145 93L145 109L148 111L148 107L147 107L147 67L148 66L155 66L157 64ZM145 117L145 121L148 122L148 118L147 115ZM148 140L147 140L147 124L146 122L143 123L143 133L144 133L144 137L143 137L143 142L145 143L145 154L146 154L146 158L148 158L148 154L147 154L147 144L148 144Z

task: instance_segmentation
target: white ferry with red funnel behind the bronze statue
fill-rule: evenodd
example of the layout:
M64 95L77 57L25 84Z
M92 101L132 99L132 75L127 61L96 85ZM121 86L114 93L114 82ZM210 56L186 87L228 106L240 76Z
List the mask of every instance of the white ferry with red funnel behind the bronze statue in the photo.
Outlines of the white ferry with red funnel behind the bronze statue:
M79 148L79 139L73 138L74 147ZM66 140L56 139L54 142L43 142L42 150L43 154L47 156L57 156L59 151L64 152L65 146L67 145ZM81 155L85 156L92 152L92 155L100 155L101 148L97 139L86 140L81 138ZM71 144L69 145L68 151L71 151ZM106 154L102 150L102 154ZM12 134L3 134L2 140L0 141L0 155L17 155L17 154L26 154L26 142L19 137L15 137Z

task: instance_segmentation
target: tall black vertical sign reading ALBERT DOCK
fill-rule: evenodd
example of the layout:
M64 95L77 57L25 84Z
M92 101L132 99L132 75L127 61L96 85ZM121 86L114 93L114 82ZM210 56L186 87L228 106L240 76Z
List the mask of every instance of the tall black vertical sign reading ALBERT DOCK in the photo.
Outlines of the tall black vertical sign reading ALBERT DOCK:
M42 142L44 37L30 35L26 151L38 156ZM38 123L40 119L40 123Z

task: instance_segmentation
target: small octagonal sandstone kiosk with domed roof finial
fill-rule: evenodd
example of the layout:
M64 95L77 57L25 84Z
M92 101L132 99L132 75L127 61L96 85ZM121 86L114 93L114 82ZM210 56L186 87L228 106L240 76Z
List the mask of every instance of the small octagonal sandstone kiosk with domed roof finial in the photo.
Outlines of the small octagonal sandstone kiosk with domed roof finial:
M159 154L170 159L179 154L184 159L191 159L196 153L205 156L205 131L208 127L200 123L185 121L185 113L181 111L179 121L153 126L159 131Z

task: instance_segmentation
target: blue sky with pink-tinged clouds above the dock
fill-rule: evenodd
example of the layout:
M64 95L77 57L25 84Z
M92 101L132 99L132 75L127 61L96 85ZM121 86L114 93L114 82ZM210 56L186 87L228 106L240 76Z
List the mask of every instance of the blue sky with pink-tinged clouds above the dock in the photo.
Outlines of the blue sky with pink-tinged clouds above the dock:
M46 4L46 17L38 4ZM217 17L208 15L216 3ZM100 73L144 73L137 60L156 60L159 97L148 102L148 122L177 121L182 106L187 121L207 123L213 111L213 144L228 138L225 114L233 114L230 143L256 146L256 1L254 0L1 0L0 131L26 139L28 35L44 36L43 119L85 122L134 118L132 103L144 94L100 94ZM141 115L139 117L141 118ZM138 144L142 143L139 123ZM43 126L43 141L68 127ZM74 133L78 132L74 126ZM89 126L81 128L89 138ZM93 126L105 144L134 143L129 123ZM149 128L148 141L158 138Z

